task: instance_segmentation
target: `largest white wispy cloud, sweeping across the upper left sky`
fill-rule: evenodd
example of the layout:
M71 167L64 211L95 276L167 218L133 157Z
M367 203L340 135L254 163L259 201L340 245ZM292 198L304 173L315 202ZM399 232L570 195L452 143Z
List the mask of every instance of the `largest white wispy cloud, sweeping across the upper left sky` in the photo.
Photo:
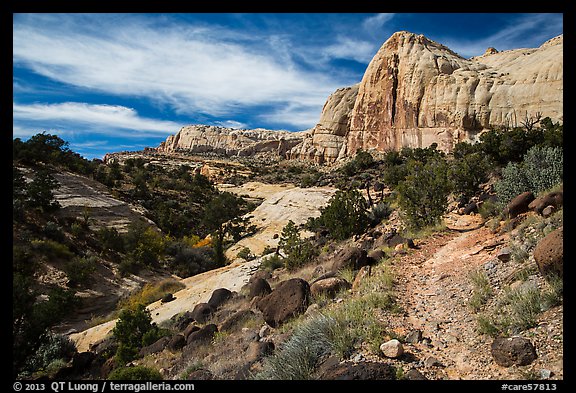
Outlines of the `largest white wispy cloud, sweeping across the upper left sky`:
M240 105L308 102L318 117L326 97L341 87L330 75L287 64L273 45L221 27L41 18L16 18L15 64L89 91L146 97L181 114L225 116Z

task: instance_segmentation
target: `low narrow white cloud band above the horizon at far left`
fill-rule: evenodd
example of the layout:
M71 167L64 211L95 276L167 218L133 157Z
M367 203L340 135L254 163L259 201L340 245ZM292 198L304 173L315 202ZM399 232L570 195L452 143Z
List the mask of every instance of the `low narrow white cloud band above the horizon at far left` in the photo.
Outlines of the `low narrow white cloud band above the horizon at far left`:
M82 102L58 104L13 103L13 134L30 136L43 126L59 129L60 132L96 132L124 136L162 135L175 133L182 124L172 121L141 117L132 108L118 105L95 105ZM61 125L61 128L58 127Z

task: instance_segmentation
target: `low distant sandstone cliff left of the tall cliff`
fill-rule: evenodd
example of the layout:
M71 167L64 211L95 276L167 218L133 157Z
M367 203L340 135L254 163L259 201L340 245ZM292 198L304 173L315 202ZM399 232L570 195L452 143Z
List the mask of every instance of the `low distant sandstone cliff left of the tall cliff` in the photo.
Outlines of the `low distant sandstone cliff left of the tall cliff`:
M216 153L228 157L271 152L285 157L288 151L303 140L305 134L305 132L235 130L194 125L183 127L176 135L170 135L157 150Z

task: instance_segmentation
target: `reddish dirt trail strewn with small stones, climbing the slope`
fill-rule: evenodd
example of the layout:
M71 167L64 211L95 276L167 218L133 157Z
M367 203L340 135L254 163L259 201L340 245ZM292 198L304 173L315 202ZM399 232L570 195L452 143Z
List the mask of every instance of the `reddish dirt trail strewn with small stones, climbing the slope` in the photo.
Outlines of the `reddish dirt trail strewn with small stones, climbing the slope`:
M424 362L428 378L521 379L522 370L518 367L500 367L494 362L490 353L493 339L478 334L477 314L468 305L473 293L469 277L472 271L487 267L504 271L511 267L512 262L506 265L496 257L506 236L494 234L486 227L445 232L422 240L418 250L394 263L398 303L404 313L392 316L388 323L399 335L416 329L422 332L424 340L407 344L406 350ZM550 335L546 330L551 328L543 322L528 334L533 338ZM549 350L539 345L541 341L534 341L539 358L531 367L549 369L559 362L555 373L561 377L561 344ZM426 359L431 357L440 364L426 365Z

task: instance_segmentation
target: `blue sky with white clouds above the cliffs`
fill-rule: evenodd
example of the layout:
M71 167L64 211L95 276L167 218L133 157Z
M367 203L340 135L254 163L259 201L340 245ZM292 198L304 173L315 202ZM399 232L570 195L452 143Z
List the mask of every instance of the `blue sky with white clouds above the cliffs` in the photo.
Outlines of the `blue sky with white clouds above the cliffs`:
M562 14L14 14L13 137L84 157L157 146L184 125L313 127L399 30L463 57L535 48Z

